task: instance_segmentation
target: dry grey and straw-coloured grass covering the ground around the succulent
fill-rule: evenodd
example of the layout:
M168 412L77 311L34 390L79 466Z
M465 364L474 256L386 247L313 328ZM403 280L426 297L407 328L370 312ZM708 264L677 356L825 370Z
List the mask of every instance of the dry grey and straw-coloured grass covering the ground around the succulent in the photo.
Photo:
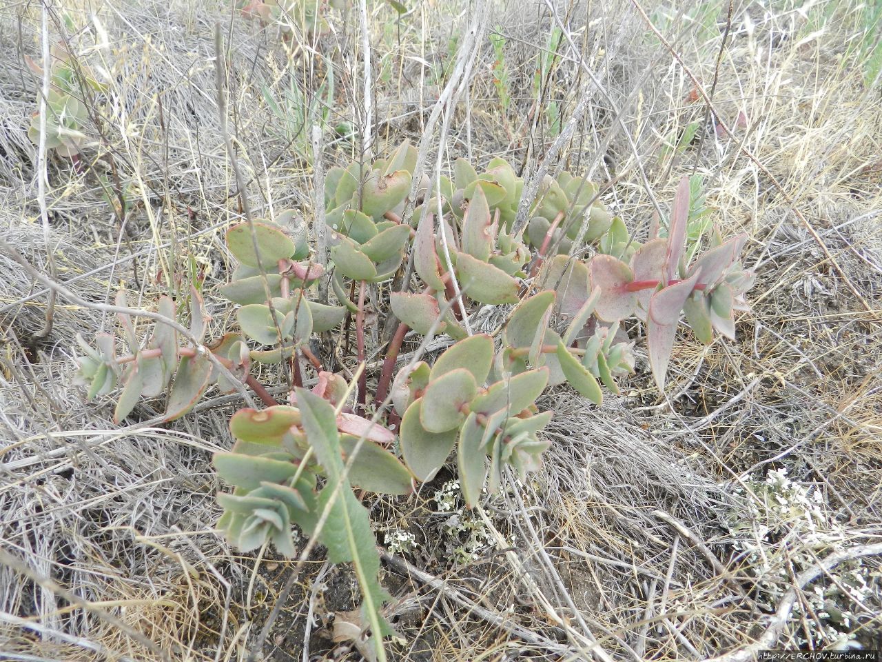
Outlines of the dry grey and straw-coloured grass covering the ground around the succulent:
M294 207L310 217L308 141L286 132L263 90L279 96L295 80L313 94L333 63L329 122L358 125L354 12L318 52L292 53L295 45L207 0L55 6L52 34L64 29L84 61L108 72L86 174L63 159L49 164L60 281L96 302L124 282L133 303L150 305L191 269L206 271L206 286L226 279L221 230L240 210L214 102L218 20L233 46L231 127L251 204L258 215ZM443 480L410 500L378 500L381 540L412 532L419 546L403 558L444 580L388 567L405 638L391 649L401 659L711 658L758 637L802 569L882 533L882 101L878 82L863 80L864 4L735 3L722 50L726 3L693 3L667 19L656 4L624 0L556 6L572 42L558 47L547 101L565 123L592 95L560 162L612 181L607 202L638 235L680 177L705 177L715 221L751 234L753 310L736 343L701 348L684 332L667 396L647 379L645 357L601 410L569 391L549 395L543 404L556 417L545 467L461 515L478 535L467 556L457 551L466 534L452 534L439 512ZM670 48L648 34L640 9ZM712 10L709 23L694 20ZM377 152L420 138L475 11L414 4L398 21L388 5L370 8ZM507 38L512 102L501 109L485 37L468 97L450 113L445 158L505 155L528 174L554 139L547 117L534 125L531 97L556 19L544 4L515 0L477 11ZM26 137L40 81L24 64L24 55L40 59L40 17L39 4L0 9L0 231L42 268ZM734 136L714 132L693 77L713 89L723 122L743 114ZM666 149L691 122L704 139ZM348 143L328 142L325 164L348 158ZM124 228L96 177L111 161L129 185ZM209 301L217 330L230 311ZM210 397L161 427L161 404L144 402L141 423L115 427L112 402L83 402L70 386L73 335L113 320L59 299L53 333L33 342L45 306L41 287L0 255L0 658L245 659L288 563L239 555L213 530L210 457L230 445L235 398ZM785 512L757 487L783 468L822 495L811 515ZM358 658L345 645L333 650L325 628L328 614L357 603L352 578L322 561L317 554L285 604L265 658ZM873 558L848 561L812 585L845 592L866 581L863 597L830 599L855 614L836 631L876 648L878 568ZM835 643L812 593L796 591L780 646ZM588 652L594 641L605 652Z

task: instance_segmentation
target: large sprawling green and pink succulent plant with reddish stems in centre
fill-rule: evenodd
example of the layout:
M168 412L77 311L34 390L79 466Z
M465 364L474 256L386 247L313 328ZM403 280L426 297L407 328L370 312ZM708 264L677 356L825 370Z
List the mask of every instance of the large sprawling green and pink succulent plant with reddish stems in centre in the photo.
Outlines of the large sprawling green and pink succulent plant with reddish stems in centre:
M452 178L442 178L428 200L428 183L415 164L415 149L405 143L387 159L328 172L323 230L336 304L318 300L325 269L310 259L304 225L287 211L275 222L228 229L228 251L239 265L218 292L238 305L238 329L205 345L207 315L193 287L177 303L159 302L164 317L189 320L188 342L164 324L138 341L128 315L118 316L124 356L117 354L115 335L98 335L97 349L78 337L84 352L78 380L88 395L122 386L117 421L141 398L166 392L168 420L191 410L215 383L221 390L244 383L258 393L265 408L237 411L230 419L235 445L215 457L219 476L232 488L219 496L221 529L243 550L269 541L293 555L297 526L327 547L330 560L354 561L377 658L391 632L380 613L388 596L377 583L368 513L353 488L407 494L455 455L464 498L474 507L484 489L499 489L506 467L523 478L541 466L549 447L542 429L552 412L541 412L537 401L548 387L568 384L598 406L602 387L618 392L617 378L634 370L635 342L623 320L645 324L662 388L681 317L701 342L712 342L714 329L732 337L735 311L746 307L744 293L753 282L740 262L746 237L723 241L714 233L700 254L687 246L694 191L686 178L677 188L668 236L642 244L602 207L594 184L566 173L548 178L530 206L531 250L511 229L523 182L505 161L493 159L479 174L458 160ZM415 177L421 185L408 201ZM409 202L414 210L407 218ZM567 254L584 244L594 247L588 259ZM413 282L400 291L374 290L378 314L399 325L374 375L376 414L366 418L365 283L400 274L407 252L412 280L422 282L422 290L409 291ZM351 300L356 287L357 303ZM117 305L125 306L124 292ZM494 305L512 306L502 332L470 335L467 315ZM353 315L362 365L356 383L325 370L312 351L317 334ZM452 344L434 360L415 359L396 374L411 330L448 335ZM338 348L349 346L348 324L338 339ZM276 402L250 374L255 363L286 366L293 381L287 402ZM310 390L302 387L303 370L315 374ZM386 399L388 412L380 407Z

